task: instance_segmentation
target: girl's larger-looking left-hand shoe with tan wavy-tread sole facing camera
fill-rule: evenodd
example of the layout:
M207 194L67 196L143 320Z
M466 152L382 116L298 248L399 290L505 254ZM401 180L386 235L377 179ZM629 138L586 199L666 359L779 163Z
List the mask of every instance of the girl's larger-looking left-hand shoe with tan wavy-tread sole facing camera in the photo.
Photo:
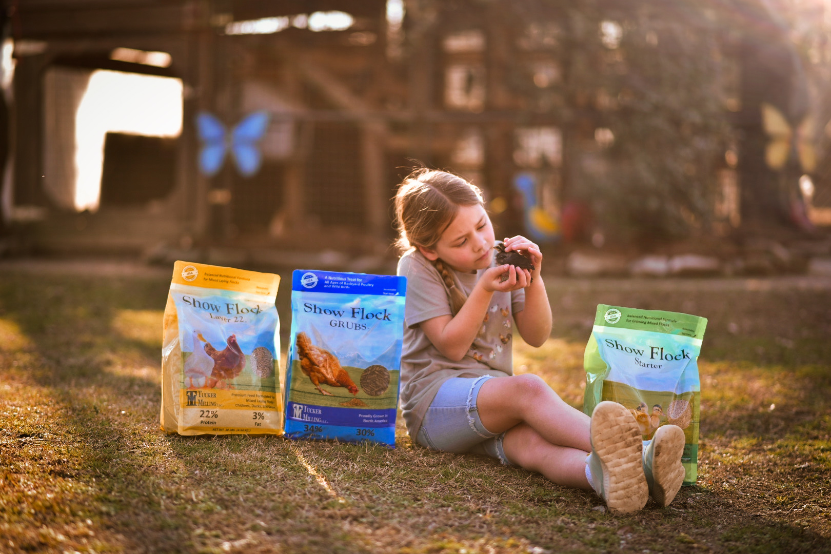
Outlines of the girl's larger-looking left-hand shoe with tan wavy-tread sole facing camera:
M588 458L593 488L610 512L640 510L649 498L642 461L642 435L629 410L617 402L603 401L594 408L590 431L592 454ZM663 449L661 449L662 460ZM659 463L659 466L661 463Z

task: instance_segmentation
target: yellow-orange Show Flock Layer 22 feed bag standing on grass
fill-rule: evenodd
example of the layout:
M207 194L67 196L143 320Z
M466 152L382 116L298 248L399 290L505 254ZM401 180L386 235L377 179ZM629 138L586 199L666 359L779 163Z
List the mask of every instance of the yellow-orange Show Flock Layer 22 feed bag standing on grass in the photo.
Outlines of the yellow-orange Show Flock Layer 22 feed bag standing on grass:
M161 428L281 434L280 277L176 262L165 306Z

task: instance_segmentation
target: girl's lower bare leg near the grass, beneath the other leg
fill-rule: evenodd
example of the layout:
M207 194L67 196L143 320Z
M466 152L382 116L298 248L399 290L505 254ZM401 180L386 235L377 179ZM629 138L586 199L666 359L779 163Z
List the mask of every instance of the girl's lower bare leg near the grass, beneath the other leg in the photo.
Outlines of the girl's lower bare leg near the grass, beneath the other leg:
M502 446L509 460L524 469L542 473L559 485L592 490L586 480L588 452L551 444L529 424L510 429Z

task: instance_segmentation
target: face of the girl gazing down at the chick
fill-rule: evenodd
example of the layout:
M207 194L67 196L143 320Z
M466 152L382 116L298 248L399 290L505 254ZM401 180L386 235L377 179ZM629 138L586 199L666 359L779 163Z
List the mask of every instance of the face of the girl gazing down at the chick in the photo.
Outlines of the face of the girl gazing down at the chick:
M494 257L494 226L481 204L460 206L439 242L419 250L428 260L440 257L458 272L484 269Z

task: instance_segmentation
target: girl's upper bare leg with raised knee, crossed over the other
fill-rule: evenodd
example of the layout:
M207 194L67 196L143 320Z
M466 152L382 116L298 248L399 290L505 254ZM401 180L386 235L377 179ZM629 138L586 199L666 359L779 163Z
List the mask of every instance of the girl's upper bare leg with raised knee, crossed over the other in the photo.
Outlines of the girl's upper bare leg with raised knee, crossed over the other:
M479 389L476 406L479 419L491 433L502 433L524 423L552 446L583 451L583 464L585 454L592 451L591 418L566 404L537 375L486 380Z

